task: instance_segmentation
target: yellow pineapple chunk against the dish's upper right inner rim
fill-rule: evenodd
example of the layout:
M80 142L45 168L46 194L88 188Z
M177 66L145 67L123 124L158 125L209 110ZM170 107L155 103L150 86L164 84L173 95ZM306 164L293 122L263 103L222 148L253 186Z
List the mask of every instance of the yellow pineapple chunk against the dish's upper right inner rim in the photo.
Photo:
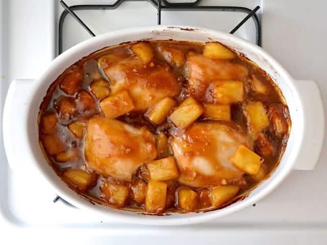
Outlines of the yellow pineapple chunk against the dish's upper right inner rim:
M219 42L208 42L204 46L203 55L209 59L232 59L235 54Z

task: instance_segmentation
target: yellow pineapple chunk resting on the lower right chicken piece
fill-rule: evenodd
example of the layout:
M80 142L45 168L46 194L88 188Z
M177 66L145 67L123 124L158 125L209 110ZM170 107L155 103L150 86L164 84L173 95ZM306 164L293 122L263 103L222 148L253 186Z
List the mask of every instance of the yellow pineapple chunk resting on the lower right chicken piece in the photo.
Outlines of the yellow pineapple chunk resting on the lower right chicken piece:
M244 145L240 145L231 158L231 162L235 166L250 175L258 173L263 161L264 159L261 156L255 154Z

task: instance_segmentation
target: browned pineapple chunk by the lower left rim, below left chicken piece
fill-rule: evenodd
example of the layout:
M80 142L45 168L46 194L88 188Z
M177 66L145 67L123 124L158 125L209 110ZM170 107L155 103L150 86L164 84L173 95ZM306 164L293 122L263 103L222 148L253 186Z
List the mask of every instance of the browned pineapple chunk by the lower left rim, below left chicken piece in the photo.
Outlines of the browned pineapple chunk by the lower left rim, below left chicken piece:
M71 183L77 190L86 191L97 183L97 176L82 169L69 168L64 171L63 178Z

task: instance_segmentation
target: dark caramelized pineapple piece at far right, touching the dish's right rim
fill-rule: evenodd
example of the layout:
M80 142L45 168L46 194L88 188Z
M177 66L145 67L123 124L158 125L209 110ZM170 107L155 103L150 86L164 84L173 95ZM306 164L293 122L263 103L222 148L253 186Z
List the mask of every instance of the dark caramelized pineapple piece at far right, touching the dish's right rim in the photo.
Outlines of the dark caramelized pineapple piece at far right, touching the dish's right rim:
M288 131L288 124L283 115L283 106L273 105L269 108L270 120L275 135L281 137Z

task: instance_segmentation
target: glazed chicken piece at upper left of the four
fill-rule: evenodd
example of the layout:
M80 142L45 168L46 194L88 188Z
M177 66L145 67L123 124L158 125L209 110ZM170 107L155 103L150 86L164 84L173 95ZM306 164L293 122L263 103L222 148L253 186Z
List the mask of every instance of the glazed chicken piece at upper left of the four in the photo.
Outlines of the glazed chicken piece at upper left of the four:
M111 56L110 59L116 60L114 54ZM165 63L144 64L137 57L103 63L112 94L128 90L135 104L133 111L146 110L166 96L176 96L180 91L176 75Z

